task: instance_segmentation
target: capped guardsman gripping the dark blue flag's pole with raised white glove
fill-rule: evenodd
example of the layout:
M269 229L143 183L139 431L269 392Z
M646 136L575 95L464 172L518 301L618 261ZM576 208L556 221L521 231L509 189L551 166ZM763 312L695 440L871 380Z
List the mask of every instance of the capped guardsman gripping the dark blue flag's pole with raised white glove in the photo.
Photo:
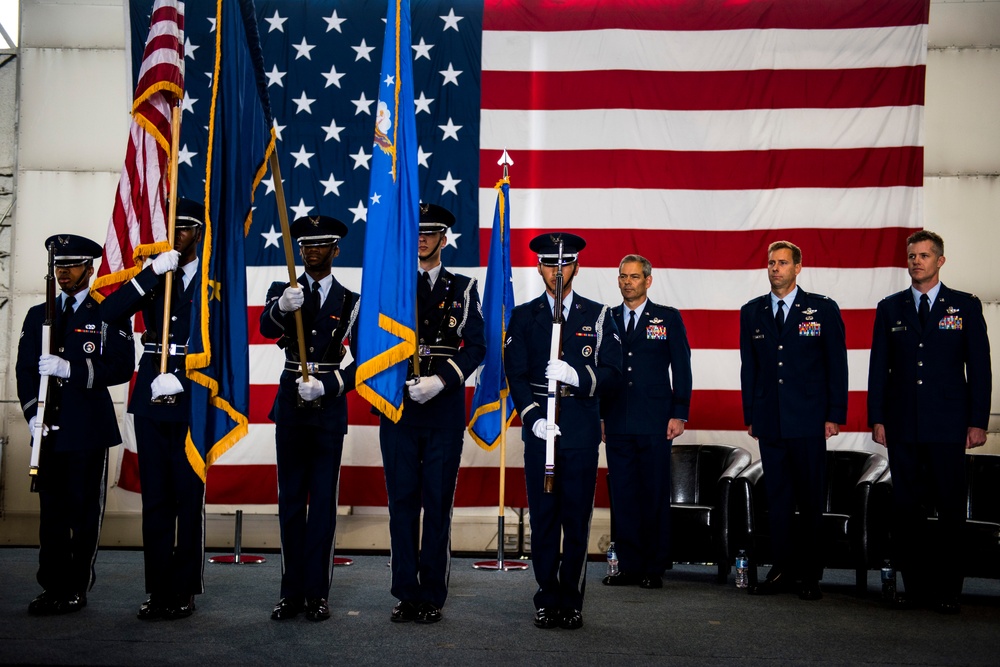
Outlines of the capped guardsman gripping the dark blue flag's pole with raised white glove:
M311 621L330 618L327 599L337 531L340 457L347 433L347 392L354 388L354 363L341 368L356 336L358 295L333 277L347 225L324 215L292 223L305 273L299 287L271 283L260 315L260 332L277 338L285 368L268 417L275 423L278 461L278 519L281 524L281 598L271 618L283 621L305 612ZM302 311L306 367L302 379L295 311ZM352 355L353 356L353 355Z

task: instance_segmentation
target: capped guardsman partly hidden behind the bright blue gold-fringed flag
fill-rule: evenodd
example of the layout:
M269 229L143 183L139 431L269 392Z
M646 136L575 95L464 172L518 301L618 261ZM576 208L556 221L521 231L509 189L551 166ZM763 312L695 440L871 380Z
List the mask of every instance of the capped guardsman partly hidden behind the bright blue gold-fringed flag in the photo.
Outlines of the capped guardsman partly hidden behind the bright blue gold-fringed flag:
M391 592L399 600L390 615L395 623L441 620L451 571L451 513L468 419L465 380L486 355L476 281L441 264L441 250L453 224L455 216L447 209L420 205L420 368L413 368L411 359L399 422L385 416L380 420L389 497Z

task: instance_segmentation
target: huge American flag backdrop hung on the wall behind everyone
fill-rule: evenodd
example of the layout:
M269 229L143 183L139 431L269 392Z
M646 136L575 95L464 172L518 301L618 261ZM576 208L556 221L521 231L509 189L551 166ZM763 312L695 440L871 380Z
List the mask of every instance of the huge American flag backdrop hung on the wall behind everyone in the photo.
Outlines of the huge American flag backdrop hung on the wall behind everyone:
M133 59L149 5L131 2ZM576 289L608 304L620 300L621 257L645 255L651 298L682 311L692 346L695 392L680 442L750 445L739 308L768 289L767 244L793 241L804 254L800 285L836 299L847 327L848 424L831 445L872 447L874 309L905 286L905 238L923 223L928 5L414 0L421 197L458 217L445 265L482 283L506 148L517 302L542 289L527 250L539 231L587 239ZM214 3L188 3L182 195L203 189L212 15ZM348 223L334 271L355 290L385 15L384 0L257 3L290 215ZM256 193L247 238L250 432L211 468L211 503L276 502L267 413L283 356L254 334L268 285L286 275L273 186L269 176ZM364 400L352 393L349 403L341 504L382 505L377 422ZM508 436L513 506L524 505L518 426ZM134 489L126 445L119 485ZM467 439L457 505L495 506L498 467L498 450Z

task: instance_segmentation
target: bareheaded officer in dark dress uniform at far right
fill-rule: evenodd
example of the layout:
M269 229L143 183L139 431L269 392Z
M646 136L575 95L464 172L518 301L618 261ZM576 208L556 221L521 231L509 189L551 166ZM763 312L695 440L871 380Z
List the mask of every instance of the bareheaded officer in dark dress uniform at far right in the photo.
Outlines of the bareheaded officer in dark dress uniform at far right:
M888 448L893 554L906 592L895 606L961 609L966 521L965 450L986 442L993 374L979 299L941 282L944 240L906 240L910 287L875 310L868 365L868 422ZM927 517L937 510L938 534Z

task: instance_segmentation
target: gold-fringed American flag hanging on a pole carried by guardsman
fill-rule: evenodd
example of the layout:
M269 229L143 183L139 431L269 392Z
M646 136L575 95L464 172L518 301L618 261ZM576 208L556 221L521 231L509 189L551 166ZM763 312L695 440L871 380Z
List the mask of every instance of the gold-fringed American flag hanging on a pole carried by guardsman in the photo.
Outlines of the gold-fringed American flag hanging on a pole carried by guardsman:
M138 68L132 124L115 205L94 280L98 300L142 269L167 243L170 114L184 96L184 3L157 0Z

